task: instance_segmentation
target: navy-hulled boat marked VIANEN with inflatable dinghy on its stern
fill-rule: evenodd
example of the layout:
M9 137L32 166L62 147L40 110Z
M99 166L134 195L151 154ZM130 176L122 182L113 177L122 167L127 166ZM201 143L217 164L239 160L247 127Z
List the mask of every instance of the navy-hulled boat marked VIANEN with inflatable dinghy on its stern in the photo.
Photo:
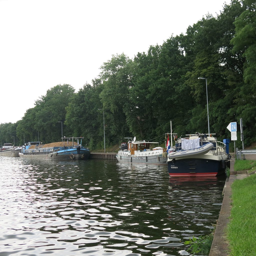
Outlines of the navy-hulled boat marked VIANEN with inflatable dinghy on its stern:
M179 138L168 152L168 172L178 176L216 176L229 166L226 144L217 141L214 134L188 134Z

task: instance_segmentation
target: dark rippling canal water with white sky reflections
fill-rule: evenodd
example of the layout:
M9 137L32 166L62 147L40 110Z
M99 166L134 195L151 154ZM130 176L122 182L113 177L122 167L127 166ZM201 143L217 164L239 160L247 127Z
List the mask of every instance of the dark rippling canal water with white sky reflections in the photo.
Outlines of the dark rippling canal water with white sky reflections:
M209 234L225 178L167 166L0 156L0 255L189 255Z

